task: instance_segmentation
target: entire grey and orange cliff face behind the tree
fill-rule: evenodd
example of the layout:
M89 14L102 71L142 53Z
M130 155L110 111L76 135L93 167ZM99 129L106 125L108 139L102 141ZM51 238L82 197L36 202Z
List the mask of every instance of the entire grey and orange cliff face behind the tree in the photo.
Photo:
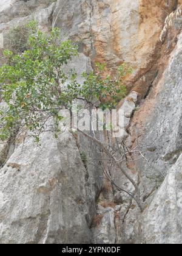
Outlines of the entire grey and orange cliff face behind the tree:
M58 140L42 135L40 146L23 136L0 141L0 243L181 243L181 24L158 40L166 12L178 3L1 0L4 48L10 29L34 18L42 30L58 26L63 38L76 41L79 57L69 65L79 82L95 61L106 62L108 73L123 62L132 66L130 94L118 108L124 109L125 143L135 148L138 137L147 161L127 165L140 187L141 213L106 182L101 149L89 138L64 132ZM94 161L84 162L83 155ZM123 174L110 172L118 186L135 192Z

